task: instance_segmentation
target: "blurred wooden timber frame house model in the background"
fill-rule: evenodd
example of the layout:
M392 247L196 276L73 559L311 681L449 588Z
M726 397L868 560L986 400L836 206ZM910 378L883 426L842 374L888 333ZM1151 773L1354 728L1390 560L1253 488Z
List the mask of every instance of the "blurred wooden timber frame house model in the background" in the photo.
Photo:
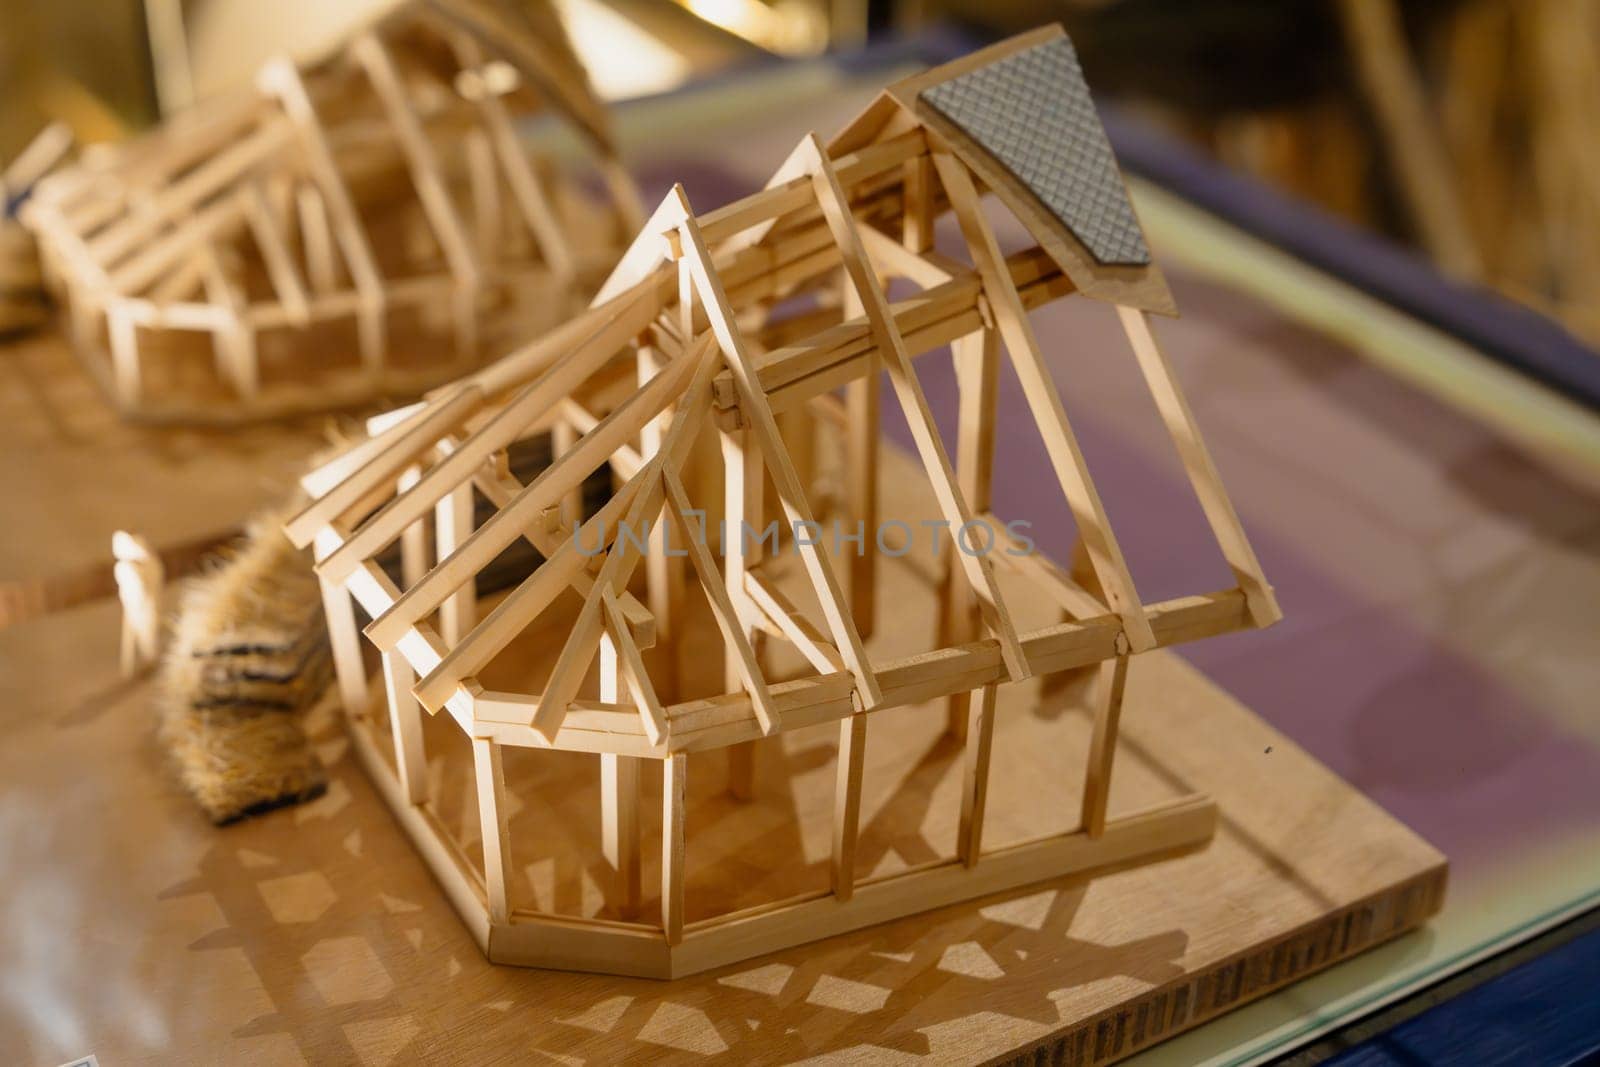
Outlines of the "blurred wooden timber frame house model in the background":
M518 142L541 110L603 202ZM461 376L502 322L582 307L642 213L549 8L411 0L50 178L26 218L125 414L238 421Z

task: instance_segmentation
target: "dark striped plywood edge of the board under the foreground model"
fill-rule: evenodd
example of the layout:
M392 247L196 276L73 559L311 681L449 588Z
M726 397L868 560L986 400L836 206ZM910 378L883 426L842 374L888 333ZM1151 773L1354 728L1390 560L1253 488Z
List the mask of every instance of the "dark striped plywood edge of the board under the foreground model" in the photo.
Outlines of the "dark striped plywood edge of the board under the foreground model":
M989 1064L1050 1062L1099 1067L1210 1022L1302 977L1411 933L1445 902L1443 859L1422 873L1365 896L1202 971L1186 974Z

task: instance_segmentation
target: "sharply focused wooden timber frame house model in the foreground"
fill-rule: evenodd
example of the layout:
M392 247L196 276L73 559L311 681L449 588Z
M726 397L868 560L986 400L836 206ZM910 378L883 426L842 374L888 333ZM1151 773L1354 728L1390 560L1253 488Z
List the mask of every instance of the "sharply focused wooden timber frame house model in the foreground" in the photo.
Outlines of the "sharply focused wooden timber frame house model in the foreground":
M1008 118L1024 122L1027 136L1008 139ZM1042 168L1026 158L1030 146L1042 149ZM981 187L1037 246L1000 251ZM934 251L933 222L944 213L955 216L970 264ZM891 302L890 280L920 291ZM1027 317L1072 293L1117 306L1237 587L1139 600ZM794 310L800 294L813 302ZM675 977L1208 841L1216 811L1200 795L1120 817L1106 811L1136 654L1278 619L1150 312L1171 314L1171 298L1072 46L1059 27L1046 27L891 86L830 144L806 138L762 192L698 214L675 189L589 312L422 403L379 416L371 437L309 474L302 485L312 499L286 531L315 544L352 725L363 717L378 725L376 734L352 731L357 752L488 957ZM946 344L960 382L954 461L915 370L918 357ZM830 493L850 526L872 531L893 518L880 514L886 378L942 518L952 530L978 523L1003 539L989 504L1002 349L1048 448L1053 478L1043 478L1059 485L1077 520L1091 581L1075 582L1037 555L947 547L939 643L872 662L875 553L830 555L826 539L797 536L786 592L773 569L779 557L760 541L723 537L718 566L717 537L694 534L706 530L690 518L696 504L710 530L718 517L760 530L768 486L790 523L816 520L810 498L821 488L803 477L806 464L781 427L797 414L834 427L843 442L845 485ZM843 398L834 395L840 389ZM546 432L557 446L552 466L526 485L510 478L506 450ZM707 446L696 448L696 438ZM570 496L606 464L619 488L578 528ZM474 528L477 496L498 510ZM656 517L669 518L672 533L654 526L638 536ZM424 555L430 531L434 553ZM477 605L474 574L518 539L534 544L542 565L493 606ZM410 557L398 582L378 561L397 541ZM1024 571L1066 621L1019 632L997 584L1002 566ZM579 606L562 603L568 590ZM802 600L821 613L803 611ZM387 707L371 696L357 606L371 619L365 633L381 653ZM691 640L694 616L717 629L702 622ZM902 637L901 621L891 622L878 629ZM528 633L541 637L517 643ZM808 667L770 680L758 643L782 643ZM704 659L707 646L720 649L714 688L686 693L677 670ZM997 691L1094 664L1102 685L1078 829L986 851ZM518 678L515 689L490 688L509 677ZM949 701L966 745L957 854L866 877L856 869L856 837L869 726L885 709L933 701ZM437 760L448 753L424 752L424 725L435 726L422 712L440 709L470 737L482 864L448 838L440 798L430 797ZM685 862L696 843L685 840L690 753L726 750L734 795L747 795L746 742L821 723L838 731L830 889L686 921ZM376 741L386 733L392 763ZM626 921L557 917L517 899L525 897L517 864L536 857L518 851L509 830L507 747L598 757L600 833ZM536 758L554 753L518 755L518 766ZM638 782L651 760L662 776L661 912L642 921Z

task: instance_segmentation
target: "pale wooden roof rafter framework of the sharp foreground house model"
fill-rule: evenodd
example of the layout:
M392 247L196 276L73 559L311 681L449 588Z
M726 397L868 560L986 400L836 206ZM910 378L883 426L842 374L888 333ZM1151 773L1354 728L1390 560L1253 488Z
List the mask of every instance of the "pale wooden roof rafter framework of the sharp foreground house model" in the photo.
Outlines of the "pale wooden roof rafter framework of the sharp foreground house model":
M904 91L891 90L835 138L832 147L814 136L806 138L757 194L696 214L682 189L674 189L618 259L587 312L464 379L464 386L483 395L483 410L475 416L482 419L478 429L458 434L450 458L424 470L365 522L354 525L341 544L325 553L320 573L333 582L350 581L352 576L358 579L376 553L403 528L419 522L451 486L466 482L498 485L494 493L486 493L494 499L498 514L374 616L368 637L382 649L397 649L410 640L416 625L506 545L528 536L528 530L544 531L539 515L554 514L563 494L603 462L622 472L622 490L603 512L606 522L664 515L669 523L685 523L691 499L678 464L704 414L715 416L725 454L730 435L741 435L747 443L750 462L763 472L763 480L771 478L786 518L811 523L814 515L806 490L787 454L776 414L822 403L838 406L840 418L848 419L842 405L822 397L872 378L875 368L890 371L888 381L907 413L917 454L946 522L950 526L974 522L994 525L998 520L992 515L987 483L982 474L973 472L992 462L992 427L987 437L963 430L960 456L947 453L915 373L917 357L952 342L971 354L958 362L978 360L979 347L973 341L987 336L986 346L990 347L984 350L989 355L973 366L986 366L986 381L992 382L995 360L1002 358L998 350L1005 349L1003 358L1022 382L1056 482L1085 539L1099 590L1104 590L1090 592L1062 574L1043 574L1042 587L1070 600L1070 622L1062 624L1061 633L1051 630L1048 637L1042 632L1019 633L1010 621L994 565L986 555L963 553L958 563L965 589L982 617L978 643L994 649L998 681L1021 680L1045 667L1058 669L1059 662L1077 662L1080 654L1090 656L1085 662L1093 662L1099 656L1088 651L1058 654L1040 649L1053 648L1056 640L1083 640L1101 648L1107 619L1114 622L1109 648L1117 654L1187 640L1213 625L1210 621L1176 622L1189 619L1186 613L1195 613L1195 619L1211 619L1213 614L1221 619L1226 614L1226 625L1234 625L1230 600L1179 606L1176 601L1146 605L1139 598L1027 320L1030 309L1077 293L1080 286L1062 267L1059 248L1042 242L1037 248L1002 254L979 197L990 190L1006 206L1011 200L1010 194L1002 195L1000 182L984 170L974 166L968 144L946 138L915 107L907 107ZM944 213L955 216L970 262L931 246L931 219ZM1038 235L1032 214L1024 213L1019 219ZM1048 237L1058 243L1062 240L1056 230ZM886 278L907 278L920 291L890 301ZM834 288L837 280L843 280L843 290ZM843 302L824 301L794 322L774 323L765 315L797 291L842 293ZM1110 298L1102 294L1102 299ZM1261 577L1259 561L1227 504L1192 414L1176 392L1171 368L1149 333L1146 315L1150 310L1138 304L1123 306L1134 354L1218 544L1234 566L1250 622L1270 622L1277 617L1270 587ZM770 347L765 342L770 338L781 339L781 344ZM654 347L659 365L653 376L640 379L640 389L632 397L606 411L590 410L589 402L576 395L602 366L637 360L646 347ZM690 378L694 384L688 384ZM966 419L966 386L962 390ZM992 386L989 392L992 395ZM984 408L976 400L981 395L973 394L976 406L971 411ZM538 397L538 403L530 397ZM430 418L427 413L437 411L432 406L437 403L434 400L411 414L405 426L421 426L418 421ZM547 472L520 490L486 482L483 470L490 456L531 426L534 406L542 408L552 424L568 427L571 443L552 464L554 477ZM509 414L512 410L515 414ZM658 421L664 422L659 451L648 443L635 450L634 435ZM390 427L386 435L397 429ZM432 430L419 434L418 440L426 440ZM299 536L309 536L330 514L349 518L346 512L354 501L365 506L373 493L387 493L384 485L398 470L403 450L402 440L392 438L389 445L366 453L370 472L346 467L342 482L331 475L325 480L318 477L320 483L336 486L322 498L334 504L314 504L304 520L298 520ZM386 458L389 453L394 454ZM544 691L526 696L478 693L470 699L475 728L528 744L557 744L557 737L568 736L568 715L590 707L579 693L605 643L606 656L618 664L619 689L627 691L634 710L643 715L638 733L629 731L629 741L619 744L630 752L638 750L637 744L677 745L674 737L686 705L664 705L648 677L637 680L637 691L626 677L630 670L629 646L634 645L635 651L650 646L645 619L651 616L643 611L642 617L629 617L626 609L610 608L613 601L619 608L627 606L629 577L645 552L632 539L605 531L605 525L590 518L579 530L581 537L603 547L594 561L570 547L565 537L542 533L544 544L554 549L546 553L546 563L443 656L418 665L414 691L421 704L437 710L462 693L475 693L477 672L509 648L555 597L576 587L582 606ZM685 541L694 544L696 537L685 536ZM902 688L891 693L885 688L882 672L874 669L866 653L858 625L859 601L845 595L826 553L803 541L797 541L795 547L802 573L821 608L818 624L795 608L758 561L730 557L726 545L722 568L709 553L702 558L699 552L691 552L688 560L698 579L696 589L704 593L710 617L730 649L730 683L741 691L754 728L770 733L787 721L782 705L795 699L792 694L798 689L774 688L760 677L749 643L752 629L792 643L818 672L816 685L822 685L821 680L829 680L829 686L845 685L858 712L901 702L909 699L907 691L920 691ZM642 656L638 661L645 662Z

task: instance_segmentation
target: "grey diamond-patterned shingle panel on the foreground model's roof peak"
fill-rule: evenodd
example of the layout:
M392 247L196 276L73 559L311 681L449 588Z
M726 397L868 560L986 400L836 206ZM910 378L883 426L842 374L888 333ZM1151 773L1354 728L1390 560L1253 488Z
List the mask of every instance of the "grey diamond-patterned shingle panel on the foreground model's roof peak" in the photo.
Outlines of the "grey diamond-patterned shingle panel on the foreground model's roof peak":
M922 91L1061 219L1102 264L1144 266L1150 250L1066 37Z

